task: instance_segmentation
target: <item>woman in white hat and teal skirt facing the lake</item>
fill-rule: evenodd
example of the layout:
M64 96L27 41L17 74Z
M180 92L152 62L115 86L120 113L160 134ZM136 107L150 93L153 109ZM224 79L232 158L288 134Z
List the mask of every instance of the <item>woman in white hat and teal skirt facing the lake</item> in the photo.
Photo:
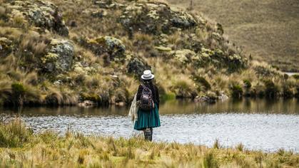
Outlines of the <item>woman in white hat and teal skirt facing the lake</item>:
M151 90L151 98L153 100L153 107L151 110L142 110L139 106L138 108L138 120L135 122L135 130L143 130L144 137L146 140L152 140L153 137L153 127L160 127L160 117L159 117L159 93L156 85L153 85L153 78L155 76L151 74L151 70L144 70L141 79L143 80L143 85L139 85L138 92L136 95L136 100L141 100L144 94L144 90L147 88Z

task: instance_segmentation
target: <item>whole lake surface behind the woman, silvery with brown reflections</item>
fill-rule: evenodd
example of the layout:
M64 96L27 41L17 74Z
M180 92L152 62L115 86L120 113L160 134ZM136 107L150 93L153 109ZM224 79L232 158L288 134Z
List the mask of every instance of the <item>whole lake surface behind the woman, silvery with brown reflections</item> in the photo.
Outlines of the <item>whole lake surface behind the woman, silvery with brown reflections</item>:
M14 110L2 109L4 120ZM130 137L133 131L128 107L31 107L25 108L22 120L36 132L66 132L68 127L86 135ZM299 152L298 100L227 100L213 105L173 100L160 107L161 127L154 129L155 141L192 142L233 147L242 142L248 149L274 152L284 148Z

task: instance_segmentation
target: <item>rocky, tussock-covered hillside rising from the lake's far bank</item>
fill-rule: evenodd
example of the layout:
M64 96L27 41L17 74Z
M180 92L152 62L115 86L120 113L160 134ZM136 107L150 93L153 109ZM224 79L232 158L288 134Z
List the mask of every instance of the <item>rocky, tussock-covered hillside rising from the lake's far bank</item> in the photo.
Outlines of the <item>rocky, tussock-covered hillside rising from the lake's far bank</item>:
M298 95L298 80L248 60L221 24L163 2L1 0L0 19L4 105L123 105L148 68L166 99Z

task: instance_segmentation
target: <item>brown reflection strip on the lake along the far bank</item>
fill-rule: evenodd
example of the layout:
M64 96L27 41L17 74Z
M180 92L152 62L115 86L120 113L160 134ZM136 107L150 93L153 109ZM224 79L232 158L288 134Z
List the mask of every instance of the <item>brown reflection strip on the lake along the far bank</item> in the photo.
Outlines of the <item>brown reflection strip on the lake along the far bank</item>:
M127 115L127 106L110 107L25 107L24 115ZM12 114L17 110L2 108L1 112ZM160 105L160 114L216 114L216 113L248 113L248 114L299 114L297 99L249 99L226 100L215 104L193 103L192 100L170 100Z

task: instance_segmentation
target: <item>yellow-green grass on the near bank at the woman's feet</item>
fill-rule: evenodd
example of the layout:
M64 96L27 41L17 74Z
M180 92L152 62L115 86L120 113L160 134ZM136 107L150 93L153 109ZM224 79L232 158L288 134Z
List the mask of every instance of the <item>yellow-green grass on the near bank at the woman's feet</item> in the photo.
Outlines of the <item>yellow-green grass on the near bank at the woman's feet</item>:
M19 120L0 125L0 167L298 167L299 154L213 148L66 132L34 134Z

